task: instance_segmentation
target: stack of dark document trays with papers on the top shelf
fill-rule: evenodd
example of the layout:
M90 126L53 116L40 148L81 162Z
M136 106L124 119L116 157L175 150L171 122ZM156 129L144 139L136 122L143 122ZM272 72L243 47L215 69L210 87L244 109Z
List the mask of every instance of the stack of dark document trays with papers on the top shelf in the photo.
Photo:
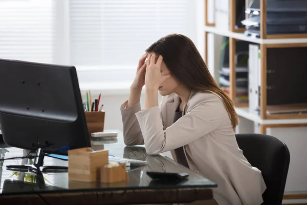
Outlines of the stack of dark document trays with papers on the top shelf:
M260 0L254 0L245 10L249 17L241 23L247 26L245 35L260 37ZM267 34L307 33L307 0L268 0Z

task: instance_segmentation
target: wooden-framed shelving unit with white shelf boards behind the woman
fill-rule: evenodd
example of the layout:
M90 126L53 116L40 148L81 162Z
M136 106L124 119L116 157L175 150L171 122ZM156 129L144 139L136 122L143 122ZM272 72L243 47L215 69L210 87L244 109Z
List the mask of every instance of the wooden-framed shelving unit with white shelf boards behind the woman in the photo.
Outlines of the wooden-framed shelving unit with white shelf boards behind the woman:
M267 115L267 51L271 48L298 48L307 47L307 34L267 35L267 1L260 0L260 38L253 38L243 34L244 30L235 29L235 3L229 1L229 30L216 27L215 23L208 22L208 0L205 0L205 62L208 62L208 33L229 37L229 81L230 97L236 97L236 41L244 40L258 44L260 48L260 114L250 112L248 104L236 104L236 112L240 117L246 118L260 125L260 133L266 134L267 128L307 127L307 114L276 114ZM304 90L304 89L303 89ZM307 102L306 102L307 103ZM307 199L307 194L286 194L284 199Z

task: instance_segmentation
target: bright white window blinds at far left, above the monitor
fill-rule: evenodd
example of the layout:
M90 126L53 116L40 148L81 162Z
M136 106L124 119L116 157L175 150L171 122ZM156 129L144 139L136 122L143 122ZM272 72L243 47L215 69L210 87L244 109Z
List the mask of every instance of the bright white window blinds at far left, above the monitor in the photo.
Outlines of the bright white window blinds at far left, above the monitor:
M0 1L0 58L52 63L52 0Z

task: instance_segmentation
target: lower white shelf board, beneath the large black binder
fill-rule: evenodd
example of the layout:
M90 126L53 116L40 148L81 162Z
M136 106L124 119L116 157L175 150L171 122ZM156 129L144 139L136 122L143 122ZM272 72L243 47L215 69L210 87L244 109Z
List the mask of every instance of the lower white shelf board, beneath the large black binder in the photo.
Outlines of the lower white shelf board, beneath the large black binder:
M307 123L307 118L303 118L303 119L261 119L258 114L249 112L248 108L235 108L235 111L240 117L244 117L246 119L257 122L262 125L305 124Z

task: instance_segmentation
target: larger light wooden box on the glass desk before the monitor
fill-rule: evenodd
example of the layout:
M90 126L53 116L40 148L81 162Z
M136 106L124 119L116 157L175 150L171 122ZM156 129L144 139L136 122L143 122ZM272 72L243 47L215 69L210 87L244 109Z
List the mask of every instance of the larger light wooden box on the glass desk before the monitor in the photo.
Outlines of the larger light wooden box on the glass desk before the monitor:
M108 150L93 152L91 148L68 151L68 177L76 181L99 181L100 168L108 165Z

